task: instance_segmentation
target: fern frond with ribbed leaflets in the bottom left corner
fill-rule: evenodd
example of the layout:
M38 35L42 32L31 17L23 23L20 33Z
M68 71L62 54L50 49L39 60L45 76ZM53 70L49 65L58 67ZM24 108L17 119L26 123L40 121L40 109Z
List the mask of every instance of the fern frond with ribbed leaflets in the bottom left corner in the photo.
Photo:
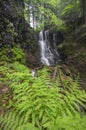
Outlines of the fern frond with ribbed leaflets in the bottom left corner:
M0 130L38 130L31 123L24 122L24 118L17 113L9 112L0 117Z

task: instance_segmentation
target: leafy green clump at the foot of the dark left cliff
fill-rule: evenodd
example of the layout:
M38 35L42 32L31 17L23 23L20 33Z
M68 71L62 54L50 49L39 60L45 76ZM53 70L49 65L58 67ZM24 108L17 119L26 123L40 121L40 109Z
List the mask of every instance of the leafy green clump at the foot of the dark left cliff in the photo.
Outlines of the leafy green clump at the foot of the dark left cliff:
M0 64L12 63L14 61L25 63L25 54L19 47L0 48Z

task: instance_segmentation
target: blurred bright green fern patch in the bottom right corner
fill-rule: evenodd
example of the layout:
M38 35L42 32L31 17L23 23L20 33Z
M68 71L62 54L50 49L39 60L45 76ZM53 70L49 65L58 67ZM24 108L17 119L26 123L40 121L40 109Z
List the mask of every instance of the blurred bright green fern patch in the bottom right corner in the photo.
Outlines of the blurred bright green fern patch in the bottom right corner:
M80 117L79 114L75 117L64 116L58 117L56 123L50 122L45 124L49 130L85 130L86 129L86 116Z

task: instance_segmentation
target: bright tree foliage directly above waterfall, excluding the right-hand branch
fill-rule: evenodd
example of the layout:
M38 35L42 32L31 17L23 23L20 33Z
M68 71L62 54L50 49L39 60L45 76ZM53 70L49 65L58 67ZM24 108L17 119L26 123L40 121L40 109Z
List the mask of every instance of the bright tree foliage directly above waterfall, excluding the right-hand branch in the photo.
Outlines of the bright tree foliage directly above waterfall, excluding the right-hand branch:
M56 14L56 9L59 2L59 0L26 0L25 3L28 7L26 9L29 13L29 19L30 17L32 17L33 26L39 26L43 28L44 26L50 25L54 25L57 27L62 25L62 20ZM32 14L32 16L30 16L30 13Z

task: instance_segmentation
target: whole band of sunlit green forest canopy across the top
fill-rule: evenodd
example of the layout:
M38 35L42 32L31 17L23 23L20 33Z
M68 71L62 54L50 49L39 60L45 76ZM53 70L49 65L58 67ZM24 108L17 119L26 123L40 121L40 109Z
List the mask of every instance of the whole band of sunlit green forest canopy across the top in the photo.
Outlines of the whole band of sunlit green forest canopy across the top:
M25 18L33 28L54 26L59 29L66 21L82 16L80 0L25 0Z

